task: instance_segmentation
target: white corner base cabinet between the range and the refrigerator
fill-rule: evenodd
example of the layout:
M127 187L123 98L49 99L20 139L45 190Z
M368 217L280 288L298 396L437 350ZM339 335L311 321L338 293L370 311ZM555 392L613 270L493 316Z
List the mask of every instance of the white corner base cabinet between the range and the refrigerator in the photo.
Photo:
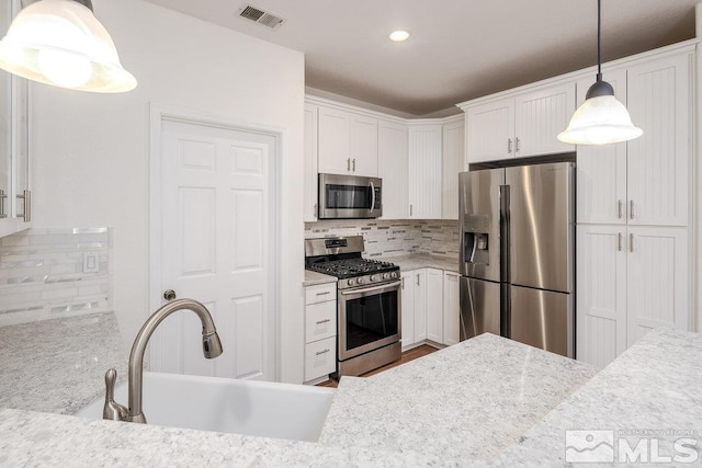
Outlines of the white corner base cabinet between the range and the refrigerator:
M438 269L404 272L403 349L424 341L458 342L458 274Z

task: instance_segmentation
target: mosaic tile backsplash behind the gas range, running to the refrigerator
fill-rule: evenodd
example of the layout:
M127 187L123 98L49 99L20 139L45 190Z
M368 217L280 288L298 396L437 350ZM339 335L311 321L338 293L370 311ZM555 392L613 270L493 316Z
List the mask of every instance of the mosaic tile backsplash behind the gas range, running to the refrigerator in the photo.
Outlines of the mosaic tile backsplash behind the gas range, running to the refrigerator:
M392 258L409 253L458 258L458 221L344 219L305 222L305 239L363 236L365 256Z

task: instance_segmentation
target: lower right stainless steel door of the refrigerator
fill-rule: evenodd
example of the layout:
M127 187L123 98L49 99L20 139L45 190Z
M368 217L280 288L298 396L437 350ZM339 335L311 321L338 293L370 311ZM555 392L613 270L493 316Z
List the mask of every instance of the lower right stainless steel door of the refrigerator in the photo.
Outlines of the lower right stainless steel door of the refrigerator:
M573 357L573 297L519 286L509 288L509 338Z

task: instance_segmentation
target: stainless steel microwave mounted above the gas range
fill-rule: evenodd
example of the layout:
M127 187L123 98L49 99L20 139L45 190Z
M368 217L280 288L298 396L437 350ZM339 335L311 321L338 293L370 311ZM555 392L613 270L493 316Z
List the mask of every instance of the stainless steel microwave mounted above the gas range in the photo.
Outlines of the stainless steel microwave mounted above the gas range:
M319 219L383 216L383 181L358 175L319 174Z

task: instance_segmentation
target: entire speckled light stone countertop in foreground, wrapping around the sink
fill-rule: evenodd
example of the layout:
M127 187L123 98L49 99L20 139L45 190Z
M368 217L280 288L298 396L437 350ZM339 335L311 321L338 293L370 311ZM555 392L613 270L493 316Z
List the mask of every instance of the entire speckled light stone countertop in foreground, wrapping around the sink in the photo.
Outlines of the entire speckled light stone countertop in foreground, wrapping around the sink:
M317 444L4 409L0 465L562 464L568 429L700 430L700 362L694 333L654 331L597 375L482 335L374 377L343 378Z

